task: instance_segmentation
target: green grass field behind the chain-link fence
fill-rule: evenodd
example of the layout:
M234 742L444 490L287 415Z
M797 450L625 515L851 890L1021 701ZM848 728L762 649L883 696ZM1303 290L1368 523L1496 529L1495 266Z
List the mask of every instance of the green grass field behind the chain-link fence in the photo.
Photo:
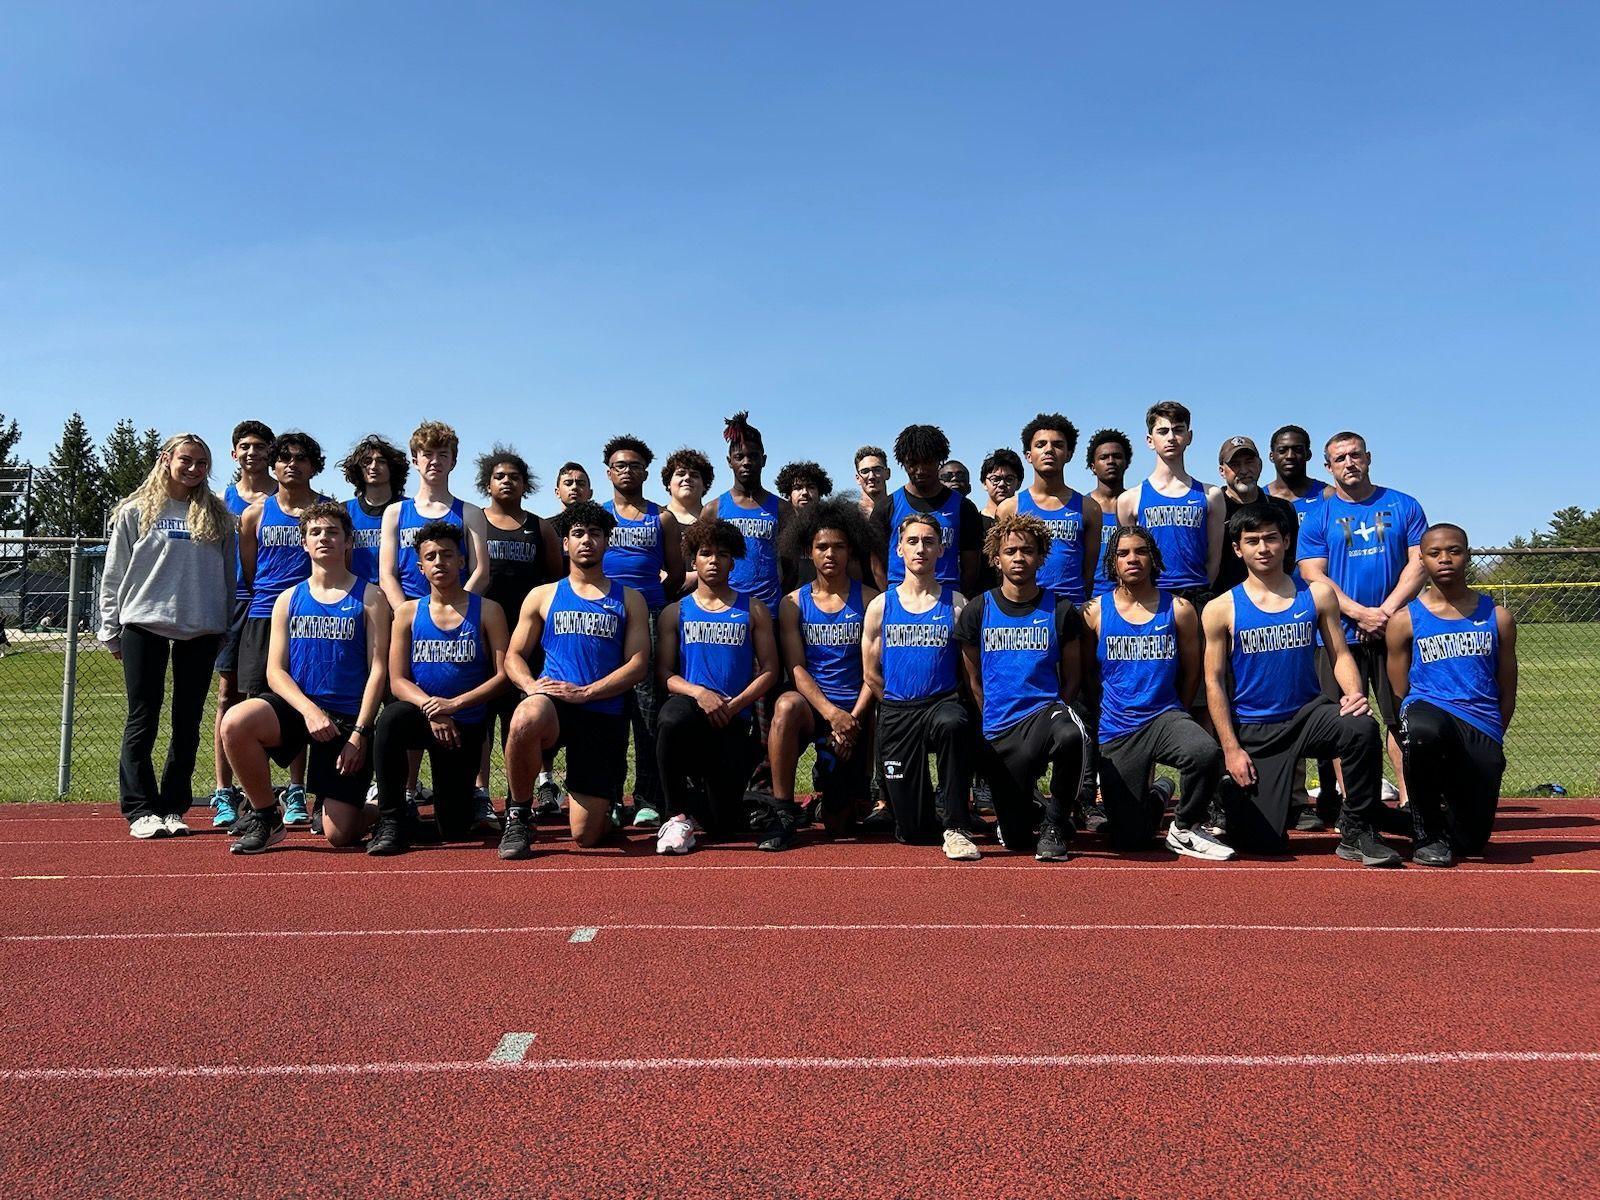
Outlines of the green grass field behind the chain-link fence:
M1522 688L1506 744L1506 794L1528 795L1555 782L1571 795L1600 795L1600 626L1523 626L1518 637ZM56 795L64 661L59 646L21 646L0 658L0 803L106 803L117 797L117 747L126 714L122 666L98 648L78 656L72 789ZM210 720L208 706L197 792L211 789ZM157 754L165 752L165 744L163 736ZM810 755L800 765L798 784L802 792L810 789ZM494 787L504 794L498 750Z

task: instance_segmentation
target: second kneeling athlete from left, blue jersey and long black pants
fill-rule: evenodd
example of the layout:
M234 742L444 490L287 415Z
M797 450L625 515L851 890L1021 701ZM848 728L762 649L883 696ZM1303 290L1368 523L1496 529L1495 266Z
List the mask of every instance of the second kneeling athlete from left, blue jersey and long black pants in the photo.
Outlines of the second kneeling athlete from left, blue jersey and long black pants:
M378 718L378 826L368 854L403 853L418 829L406 803L406 755L427 750L434 819L446 842L474 824L472 781L488 733L488 701L506 686L506 614L462 586L462 531L437 520L416 531L429 594L395 613L389 688Z

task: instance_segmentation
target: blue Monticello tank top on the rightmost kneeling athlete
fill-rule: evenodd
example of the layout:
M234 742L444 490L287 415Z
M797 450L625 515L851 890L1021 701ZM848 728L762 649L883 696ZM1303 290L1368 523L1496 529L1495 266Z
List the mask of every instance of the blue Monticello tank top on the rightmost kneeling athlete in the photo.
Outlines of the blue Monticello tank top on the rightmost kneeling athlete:
M1478 733L1504 741L1494 598L1480 594L1472 616L1459 619L1435 616L1421 600L1406 605L1406 611L1411 614L1411 690L1405 702L1427 701Z

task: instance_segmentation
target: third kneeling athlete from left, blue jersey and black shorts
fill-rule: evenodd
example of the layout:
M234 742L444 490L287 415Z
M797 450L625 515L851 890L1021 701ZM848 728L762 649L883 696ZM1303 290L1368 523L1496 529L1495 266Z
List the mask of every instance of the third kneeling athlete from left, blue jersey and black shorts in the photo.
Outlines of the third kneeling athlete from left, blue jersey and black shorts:
M517 706L506 742L510 805L502 859L531 854L534 787L562 746L573 840L595 846L611 832L610 814L627 778L627 694L650 667L645 597L605 574L616 517L594 501L578 501L552 523L568 574L528 594L506 656L506 674L526 699ZM534 675L530 662L539 658Z

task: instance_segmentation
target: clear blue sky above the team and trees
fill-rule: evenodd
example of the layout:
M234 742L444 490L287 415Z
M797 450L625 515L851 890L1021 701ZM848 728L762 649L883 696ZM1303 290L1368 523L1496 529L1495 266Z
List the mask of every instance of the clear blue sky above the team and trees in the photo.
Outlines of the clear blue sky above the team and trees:
M1576 3L11 5L0 411L37 459L74 408L443 418L552 480L749 408L843 486L1040 410L1142 474L1178 398L1202 477L1354 427L1502 541L1600 506L1595 45Z

